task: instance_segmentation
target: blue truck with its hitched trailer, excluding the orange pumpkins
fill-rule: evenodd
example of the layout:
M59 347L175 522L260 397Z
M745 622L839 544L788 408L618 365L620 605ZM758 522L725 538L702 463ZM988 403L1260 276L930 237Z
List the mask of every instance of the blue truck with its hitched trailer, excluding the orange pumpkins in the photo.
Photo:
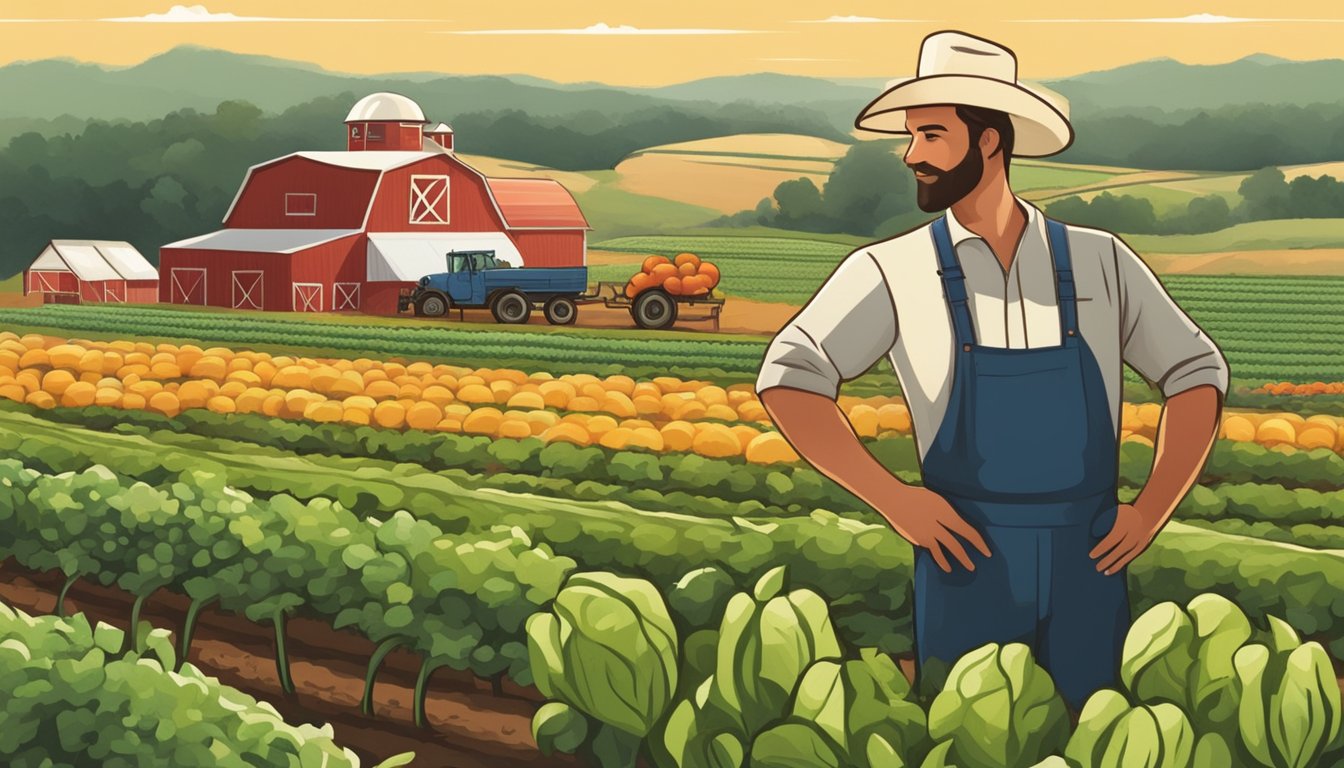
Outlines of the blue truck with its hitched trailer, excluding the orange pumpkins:
M421 317L441 317L452 309L488 308L497 323L527 323L540 309L552 325L570 325L583 304L628 309L640 328L671 328L677 319L710 320L719 330L723 296L675 296L663 288L648 288L630 299L621 282L598 282L587 288L586 266L515 268L499 261L493 250L456 250L446 256L446 272L421 277L415 288L398 296L398 312L414 309ZM706 312L684 316L683 307Z

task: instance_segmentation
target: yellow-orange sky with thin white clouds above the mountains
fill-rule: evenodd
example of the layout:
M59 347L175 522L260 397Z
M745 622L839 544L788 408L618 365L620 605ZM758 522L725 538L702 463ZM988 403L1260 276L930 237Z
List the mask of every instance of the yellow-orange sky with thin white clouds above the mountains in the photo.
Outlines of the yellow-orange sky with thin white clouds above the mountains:
M1279 12L1279 16L1273 15ZM1153 58L1344 58L1344 3L1024 0L0 0L0 65L132 66L175 46L355 74L530 74L656 86L759 71L914 74L919 40L961 30L1017 54L1023 79Z

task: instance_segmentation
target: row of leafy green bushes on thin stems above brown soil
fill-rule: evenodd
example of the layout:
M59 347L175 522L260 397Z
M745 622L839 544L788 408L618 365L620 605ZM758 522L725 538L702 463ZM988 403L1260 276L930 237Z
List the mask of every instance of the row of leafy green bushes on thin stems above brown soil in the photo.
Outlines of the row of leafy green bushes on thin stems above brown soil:
M320 496L254 498L210 468L149 486L101 465L44 475L3 459L0 531L0 558L59 570L62 597L81 578L133 594L133 627L153 592L185 593L183 659L206 605L271 624L289 693L290 613L353 627L379 643L368 690L382 656L410 647L423 659L417 721L437 667L530 683L523 621L575 565L507 525L448 534L403 510L376 519Z

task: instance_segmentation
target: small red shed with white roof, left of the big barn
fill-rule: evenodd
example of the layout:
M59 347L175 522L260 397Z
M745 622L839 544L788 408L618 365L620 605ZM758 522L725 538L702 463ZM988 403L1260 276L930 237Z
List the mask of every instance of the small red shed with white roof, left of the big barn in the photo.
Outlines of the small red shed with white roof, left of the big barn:
M54 239L23 272L23 293L152 304L159 300L159 272L125 241Z

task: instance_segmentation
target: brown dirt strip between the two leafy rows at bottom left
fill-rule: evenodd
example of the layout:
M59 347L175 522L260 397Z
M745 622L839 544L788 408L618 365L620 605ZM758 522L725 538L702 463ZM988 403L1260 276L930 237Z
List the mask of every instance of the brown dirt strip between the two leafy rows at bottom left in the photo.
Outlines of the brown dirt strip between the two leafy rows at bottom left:
M54 613L59 573L36 573L0 564L0 599L28 613ZM116 588L81 581L66 597L66 611L125 629L130 596ZM144 619L173 632L176 642L188 600L160 590L145 601ZM411 706L418 656L398 650L388 655L374 689L375 718L359 712L364 671L374 644L308 619L286 624L290 674L297 693L285 697L276 671L274 636L267 627L239 616L202 612L188 660L208 675L267 701L286 722L329 722L336 742L370 764L402 752L415 752L411 765L425 768L512 768L515 765L574 767L570 756L546 757L531 736L539 694L507 686L493 695L474 675L439 670L426 699L427 729L417 729Z

